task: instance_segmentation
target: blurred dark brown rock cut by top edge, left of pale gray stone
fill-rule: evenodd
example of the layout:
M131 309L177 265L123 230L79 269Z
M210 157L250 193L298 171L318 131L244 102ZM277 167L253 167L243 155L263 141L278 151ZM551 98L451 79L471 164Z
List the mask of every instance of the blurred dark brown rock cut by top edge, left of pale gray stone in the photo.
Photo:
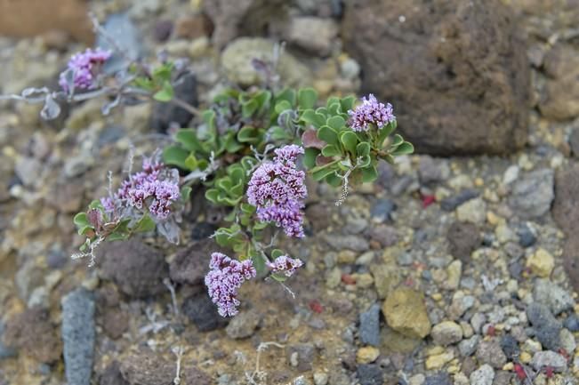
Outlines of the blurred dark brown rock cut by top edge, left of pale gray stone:
M203 11L213 21L213 44L218 49L237 36L259 36L285 19L284 0L213 0Z

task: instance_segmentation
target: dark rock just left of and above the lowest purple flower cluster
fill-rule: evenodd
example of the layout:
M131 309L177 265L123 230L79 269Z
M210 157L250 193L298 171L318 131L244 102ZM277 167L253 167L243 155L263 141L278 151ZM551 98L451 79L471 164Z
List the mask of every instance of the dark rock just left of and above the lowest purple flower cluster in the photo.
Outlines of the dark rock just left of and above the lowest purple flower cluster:
M194 242L181 249L169 264L169 275L173 282L184 285L202 285L205 274L209 271L208 261L212 251L214 251L214 242L211 239Z

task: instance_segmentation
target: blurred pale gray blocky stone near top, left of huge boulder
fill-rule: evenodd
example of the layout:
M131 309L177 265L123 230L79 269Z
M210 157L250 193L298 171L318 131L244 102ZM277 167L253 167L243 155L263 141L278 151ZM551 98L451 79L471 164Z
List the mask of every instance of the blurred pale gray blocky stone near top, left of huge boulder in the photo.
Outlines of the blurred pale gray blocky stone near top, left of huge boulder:
M338 36L338 26L332 19L312 16L294 17L287 28L287 41L318 56L327 56Z

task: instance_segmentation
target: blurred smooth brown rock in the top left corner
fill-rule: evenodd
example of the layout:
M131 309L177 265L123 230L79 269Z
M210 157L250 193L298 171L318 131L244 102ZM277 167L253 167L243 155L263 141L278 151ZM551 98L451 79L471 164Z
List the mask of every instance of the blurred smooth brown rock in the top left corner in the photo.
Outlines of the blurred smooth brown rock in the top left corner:
M29 37L54 29L92 44L84 0L0 0L0 35Z

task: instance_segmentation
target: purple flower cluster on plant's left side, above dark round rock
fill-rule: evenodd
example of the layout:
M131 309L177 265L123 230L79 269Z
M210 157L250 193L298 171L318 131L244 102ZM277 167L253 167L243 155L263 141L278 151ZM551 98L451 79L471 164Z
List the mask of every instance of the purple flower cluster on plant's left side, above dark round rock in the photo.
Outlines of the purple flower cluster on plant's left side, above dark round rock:
M105 212L117 213L134 207L149 213L157 220L165 220L171 213L171 205L181 197L177 180L165 179L164 164L155 159L144 159L142 171L123 180L112 197L101 198Z

